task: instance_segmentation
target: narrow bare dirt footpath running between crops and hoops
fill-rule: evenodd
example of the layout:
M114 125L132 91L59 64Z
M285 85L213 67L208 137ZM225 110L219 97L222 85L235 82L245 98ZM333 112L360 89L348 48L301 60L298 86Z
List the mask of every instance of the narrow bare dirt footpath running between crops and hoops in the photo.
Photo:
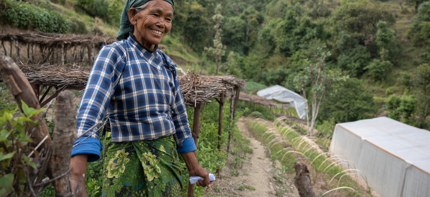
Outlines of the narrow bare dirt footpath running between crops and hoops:
M231 175L232 166L227 164L221 171L222 179L218 179L215 183L216 186L208 190L210 191L208 196L298 196L298 191L292 182L287 183L288 191L281 191L279 182L273 178L276 175L273 168L276 167L272 166L267 148L252 137L243 118L240 119L237 126L243 135L249 139L249 148L252 149L252 154L248 155L249 160L244 159L245 163L238 176ZM232 161L233 156L229 155L227 163ZM279 167L279 163L275 165Z

